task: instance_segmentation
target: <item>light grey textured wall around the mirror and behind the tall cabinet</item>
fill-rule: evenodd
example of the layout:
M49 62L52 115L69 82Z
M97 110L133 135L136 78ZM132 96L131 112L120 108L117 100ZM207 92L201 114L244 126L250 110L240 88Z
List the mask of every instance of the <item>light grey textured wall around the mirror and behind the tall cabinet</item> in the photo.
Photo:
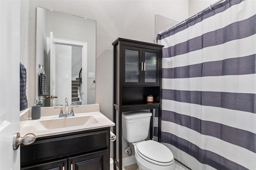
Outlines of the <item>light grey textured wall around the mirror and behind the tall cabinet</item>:
M28 107L36 96L36 7L96 20L96 103L113 120L113 47L118 37L154 43L155 14L188 17L188 0L30 0L21 1L21 61L27 72ZM172 26L172 25L170 25ZM112 150L111 150L112 156Z

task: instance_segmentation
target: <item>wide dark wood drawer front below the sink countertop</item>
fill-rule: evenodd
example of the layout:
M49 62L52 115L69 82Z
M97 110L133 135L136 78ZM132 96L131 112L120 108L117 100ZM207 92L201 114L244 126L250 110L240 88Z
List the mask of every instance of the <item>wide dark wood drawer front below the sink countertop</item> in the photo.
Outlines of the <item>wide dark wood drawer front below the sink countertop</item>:
M39 160L62 158L70 154L89 152L108 147L108 130L94 131L78 135L53 136L51 139L37 139L31 145L20 148L21 165Z

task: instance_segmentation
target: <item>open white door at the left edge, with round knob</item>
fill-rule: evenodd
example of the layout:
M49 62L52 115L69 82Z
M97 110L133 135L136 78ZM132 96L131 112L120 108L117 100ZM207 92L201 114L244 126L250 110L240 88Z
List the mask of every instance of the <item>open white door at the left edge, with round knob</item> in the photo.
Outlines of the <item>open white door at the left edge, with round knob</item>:
M0 0L0 170L20 169L20 1Z

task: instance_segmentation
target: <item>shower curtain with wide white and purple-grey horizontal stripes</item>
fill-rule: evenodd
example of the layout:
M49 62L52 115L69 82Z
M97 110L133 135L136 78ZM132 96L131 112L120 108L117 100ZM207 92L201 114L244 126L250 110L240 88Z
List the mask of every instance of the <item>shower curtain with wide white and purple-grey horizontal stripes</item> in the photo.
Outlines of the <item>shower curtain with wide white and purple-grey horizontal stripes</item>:
M158 43L162 143L192 170L256 170L256 1L226 0Z

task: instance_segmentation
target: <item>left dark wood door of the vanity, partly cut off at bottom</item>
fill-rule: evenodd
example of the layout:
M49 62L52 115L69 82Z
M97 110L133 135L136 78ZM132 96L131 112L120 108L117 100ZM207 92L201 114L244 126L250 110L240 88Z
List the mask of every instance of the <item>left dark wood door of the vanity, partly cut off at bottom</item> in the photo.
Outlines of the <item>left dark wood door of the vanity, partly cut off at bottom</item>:
M67 170L68 159L57 160L53 162L47 162L44 164L38 164L35 166L29 166L21 168L21 170Z

